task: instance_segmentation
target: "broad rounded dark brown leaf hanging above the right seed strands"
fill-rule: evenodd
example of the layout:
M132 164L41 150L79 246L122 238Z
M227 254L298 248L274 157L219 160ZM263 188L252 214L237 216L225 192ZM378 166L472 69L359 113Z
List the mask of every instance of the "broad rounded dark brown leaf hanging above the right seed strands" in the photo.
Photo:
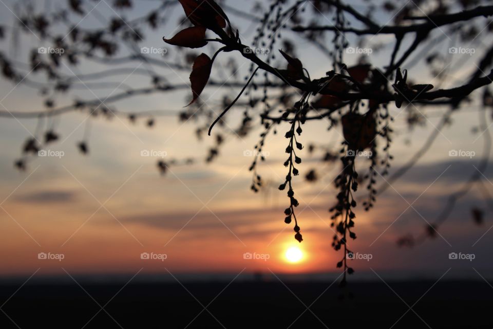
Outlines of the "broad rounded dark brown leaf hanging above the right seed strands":
M349 150L363 151L371 147L376 137L376 123L373 115L348 113L342 117L343 134Z

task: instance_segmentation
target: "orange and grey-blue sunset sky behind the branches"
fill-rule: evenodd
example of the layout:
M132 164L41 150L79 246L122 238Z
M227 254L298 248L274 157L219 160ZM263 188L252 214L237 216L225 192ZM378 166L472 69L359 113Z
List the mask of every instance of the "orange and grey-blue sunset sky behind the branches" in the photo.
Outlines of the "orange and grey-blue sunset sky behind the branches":
M40 2L42 3L42 2ZM46 6L61 6L64 2L46 1ZM129 19L156 7L158 2L141 1L139 6L125 13ZM247 10L251 2L226 1L226 4ZM361 8L352 2L355 8ZM2 4L14 8L13 1ZM311 6L309 3L307 6ZM89 28L98 24L99 16L115 16L102 1L88 3L93 9L86 17L73 17L81 27ZM307 12L313 10L307 8ZM225 10L240 29L242 39L251 40L255 31L251 24L234 13ZM99 16L98 16L99 15ZM145 30L142 46L163 47L162 37L177 32L177 21L182 16L181 8L169 9L169 20L159 30ZM16 19L10 11L2 10L2 22L13 25ZM323 24L327 18L316 16ZM391 17L377 15L384 24ZM443 31L437 31L444 33ZM289 32L286 32L289 33ZM318 49L307 41L289 34L298 47L298 57L310 72L311 77L322 77L331 64ZM448 38L448 36L447 36ZM355 42L354 39L350 39ZM374 43L389 44L391 38L378 35ZM408 41L406 41L408 42ZM479 50L485 41L478 38L473 46ZM27 60L27 49L43 46L35 35L27 36L17 47L8 40L2 42L2 51L16 54L20 61ZM447 43L441 46L447 50ZM212 54L214 47L205 48ZM303 51L301 51L303 49ZM125 54L123 50L122 56ZM382 67L388 58L389 49L370 55L370 62ZM170 49L167 58L173 58ZM249 63L232 54L239 64L241 81L247 73ZM432 83L441 87L457 86L477 62L476 56L451 58L446 79L438 81L429 76L422 64L410 71L410 78L421 83ZM348 64L356 57L347 56ZM458 64L460 63L460 65ZM76 74L98 72L104 66L84 62L70 69ZM132 69L141 69L138 63L131 63ZM405 67L405 65L404 65ZM170 81L187 83L189 71L174 71L153 67L166 75ZM67 74L71 74L67 67ZM73 74L72 73L72 74ZM30 78L43 81L43 76L32 74ZM219 78L219 77L218 77ZM142 75L109 78L105 81L121 82L132 86L148 86L149 77ZM424 80L424 81L422 81ZM57 98L56 105L70 104L75 97L80 99L103 98L118 93L114 86L103 89L80 85L79 90ZM203 98L219 114L222 111L221 96L229 93L233 97L237 90L206 87ZM178 113L187 103L189 90L134 97L111 104L119 111L134 113L150 110L169 110ZM0 81L0 103L8 111L34 111L42 109L43 97L35 89L24 85L12 85ZM103 98L104 99L104 98ZM371 259L357 259L356 272L372 270L390 273L394 277L435 276L452 268L450 276L460 278L477 277L475 271L491 277L491 263L488 246L493 243L493 224L486 215L482 226L471 219L471 207L486 209L482 194L472 189L460 200L447 223L440 229L440 236L427 240L414 248L397 248L397 237L418 234L432 222L445 205L447 193L456 191L477 170L483 156L482 132L478 129L480 106L473 102L452 116L452 123L438 135L437 140L412 170L402 179L392 183L376 202L370 212L359 210L356 215L357 239L350 247ZM431 108L424 126L409 130L403 109L390 106L395 117L392 154L392 170L400 168L425 143L440 120L444 108ZM233 111L233 110L232 110ZM229 114L227 122L232 127L241 119L241 109ZM491 123L487 114L487 125ZM245 151L253 150L260 130L249 137L240 138L231 133L221 149L220 157L213 163L196 163L186 167L172 167L165 176L160 176L156 161L158 157L141 156L142 151L156 151L166 157L205 158L211 138L198 141L196 126L183 123L176 116L156 118L156 125L148 129L144 119L135 124L124 118L104 120L88 118L87 113L69 113L56 118L52 124L61 140L52 144L50 151L64 152L61 157L32 159L26 172L13 168L13 161L20 156L22 144L30 134L35 134L37 120L2 117L0 120L0 276L64 275L65 272L78 274L114 275L142 273L155 275L166 273L331 273L338 275L335 264L343 257L331 247L334 232L330 228L330 208L336 191L332 179L340 171L339 163L317 164L316 156L306 150L301 152L304 163L301 173L317 166L324 172L323 179L314 184L305 182L301 176L294 180L295 192L300 206L297 217L300 221L304 241L294 240L291 226L283 223L283 209L288 205L284 192L277 186L282 182L286 169L282 166L286 139L283 133L269 136L264 151L269 152L267 161L259 172L268 181L266 191L255 194L250 191L251 173L248 167L252 158ZM333 150L340 147L341 132L327 131L327 122L310 122L304 129L301 140L331 145ZM279 132L287 130L281 126ZM81 155L75 145L89 130L89 155ZM87 133L87 132L86 132ZM449 151L462 150L473 156L450 157ZM368 165L364 158L358 158L361 166ZM485 186L493 189L492 172L484 174ZM385 180L380 178L380 184ZM380 185L379 184L379 185ZM364 193L364 192L363 192ZM298 262L290 262L286 251L297 247L303 256ZM450 252L475 254L473 261L450 260ZM39 254L47 258L39 259ZM142 254L149 258L142 259ZM245 256L247 253L247 256ZM252 258L248 259L248 255ZM50 256L51 255L51 256ZM58 256L56 256L58 255ZM63 255L60 259L60 255ZM245 257L247 259L245 259ZM145 257L144 257L145 258ZM367 257L368 258L368 257ZM392 274L393 273L393 274ZM361 276L360 278L366 278Z

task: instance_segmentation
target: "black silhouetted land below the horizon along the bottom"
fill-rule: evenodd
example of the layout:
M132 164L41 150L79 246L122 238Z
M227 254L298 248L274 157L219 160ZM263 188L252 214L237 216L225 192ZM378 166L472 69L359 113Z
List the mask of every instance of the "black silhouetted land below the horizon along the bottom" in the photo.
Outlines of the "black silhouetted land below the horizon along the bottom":
M21 284L0 284L0 328L493 328L484 281L351 282L342 301L323 282Z

